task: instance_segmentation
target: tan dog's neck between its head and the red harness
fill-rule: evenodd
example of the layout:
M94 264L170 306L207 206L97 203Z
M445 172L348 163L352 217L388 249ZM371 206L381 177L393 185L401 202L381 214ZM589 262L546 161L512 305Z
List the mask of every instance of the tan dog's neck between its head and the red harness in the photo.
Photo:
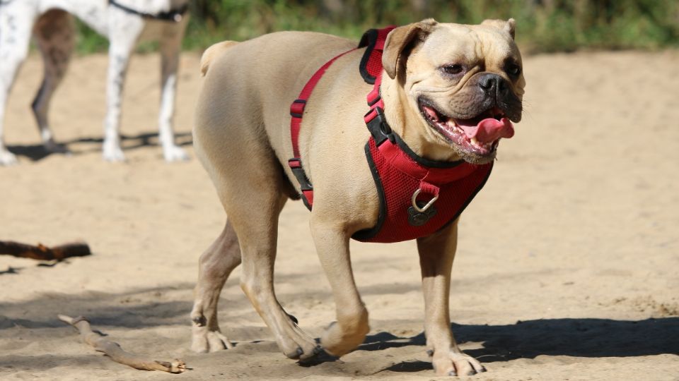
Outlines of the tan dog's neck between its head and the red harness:
M391 129L417 155L439 162L455 162L462 159L451 145L436 135L419 114L417 104L407 95L398 78L389 78L383 71L381 97L384 100L384 114Z

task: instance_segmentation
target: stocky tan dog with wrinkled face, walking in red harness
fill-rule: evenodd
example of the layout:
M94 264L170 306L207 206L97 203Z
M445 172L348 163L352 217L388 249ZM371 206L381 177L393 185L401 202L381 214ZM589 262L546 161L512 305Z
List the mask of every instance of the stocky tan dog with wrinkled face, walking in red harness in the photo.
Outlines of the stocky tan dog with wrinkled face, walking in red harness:
M468 138L465 126L485 116L521 119L525 81L513 33L513 20L482 25L424 20L390 32L383 53L385 116L417 155L492 162L497 135L491 141ZM191 314L195 351L231 347L219 332L216 306L224 282L242 260L241 287L286 356L304 360L318 353L314 339L274 295L278 217L286 200L299 193L286 165L293 157L289 107L316 69L355 45L319 33L277 32L242 43L222 42L204 55L195 147L228 222L200 258ZM363 116L371 85L358 71L363 52L350 52L327 70L309 99L299 138L315 191L311 233L337 306L337 323L320 344L336 356L355 349L369 329L349 259L349 238L378 219L378 193L364 154L369 133ZM460 351L450 329L456 242L456 221L417 240L426 345L439 375L484 370Z

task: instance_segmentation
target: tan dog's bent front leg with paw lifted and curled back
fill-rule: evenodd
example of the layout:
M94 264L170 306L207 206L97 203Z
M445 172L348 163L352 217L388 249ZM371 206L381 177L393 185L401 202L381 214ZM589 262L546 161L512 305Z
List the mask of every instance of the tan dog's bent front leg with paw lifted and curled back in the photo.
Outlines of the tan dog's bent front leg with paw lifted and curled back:
M311 217L311 234L335 298L337 322L326 329L321 338L323 349L334 356L342 356L361 344L370 330L368 310L356 289L349 255L349 236L346 229L330 219L318 217L317 205ZM328 214L326 215L334 215Z

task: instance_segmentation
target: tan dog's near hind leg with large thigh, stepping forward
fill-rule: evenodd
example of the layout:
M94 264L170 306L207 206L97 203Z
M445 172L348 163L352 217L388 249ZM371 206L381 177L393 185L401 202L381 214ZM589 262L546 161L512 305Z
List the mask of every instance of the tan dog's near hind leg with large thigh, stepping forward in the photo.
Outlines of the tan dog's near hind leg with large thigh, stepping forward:
M251 99L243 82L240 56L226 54L237 46L226 47L211 62L203 60L209 69L196 104L195 152L238 236L240 288L286 356L311 358L318 353L315 340L286 313L274 292L279 214L295 191L265 131L262 105ZM231 89L228 96L225 88Z

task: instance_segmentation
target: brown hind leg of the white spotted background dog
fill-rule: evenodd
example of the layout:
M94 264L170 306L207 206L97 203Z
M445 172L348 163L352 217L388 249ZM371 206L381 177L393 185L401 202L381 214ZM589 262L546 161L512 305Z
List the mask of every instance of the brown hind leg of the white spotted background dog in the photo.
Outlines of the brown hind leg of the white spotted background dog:
M54 90L64 78L75 46L73 17L66 11L56 9L47 11L37 20L33 31L35 42L45 62L45 78L33 101L33 114L45 148L50 152L67 152L66 147L54 143L47 121L47 111Z

